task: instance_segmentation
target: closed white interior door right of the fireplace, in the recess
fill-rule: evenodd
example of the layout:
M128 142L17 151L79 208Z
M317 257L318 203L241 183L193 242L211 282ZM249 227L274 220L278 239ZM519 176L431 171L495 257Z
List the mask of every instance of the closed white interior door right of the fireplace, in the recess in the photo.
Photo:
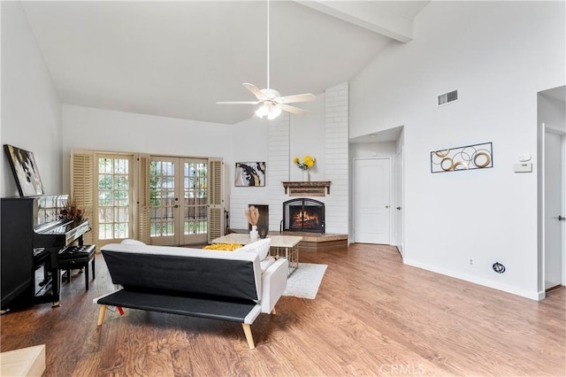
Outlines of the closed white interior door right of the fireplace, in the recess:
M354 241L390 242L391 158L354 159Z

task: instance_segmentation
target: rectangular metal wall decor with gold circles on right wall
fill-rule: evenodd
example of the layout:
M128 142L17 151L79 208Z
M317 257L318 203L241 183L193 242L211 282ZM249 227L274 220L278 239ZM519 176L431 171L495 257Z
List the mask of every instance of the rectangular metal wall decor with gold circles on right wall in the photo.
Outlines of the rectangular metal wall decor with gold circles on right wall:
M489 167L493 167L492 142L431 152L431 173L486 169Z

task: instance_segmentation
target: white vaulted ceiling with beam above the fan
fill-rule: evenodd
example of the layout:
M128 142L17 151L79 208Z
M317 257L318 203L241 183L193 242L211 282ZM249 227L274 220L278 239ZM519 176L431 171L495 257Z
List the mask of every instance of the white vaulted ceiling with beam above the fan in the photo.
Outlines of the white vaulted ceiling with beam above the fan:
M389 42L407 42L428 2L272 1L271 87L282 96L348 81ZM24 1L60 99L233 124L266 87L265 1ZM300 104L297 104L300 107Z

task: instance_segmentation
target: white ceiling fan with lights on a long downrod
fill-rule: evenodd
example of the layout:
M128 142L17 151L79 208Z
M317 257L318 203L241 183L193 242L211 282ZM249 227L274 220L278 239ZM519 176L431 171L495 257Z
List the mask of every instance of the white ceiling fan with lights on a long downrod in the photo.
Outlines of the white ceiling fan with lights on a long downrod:
M256 110L256 115L259 118L267 117L267 119L270 120L279 117L281 112L291 112L293 114L302 115L307 111L289 104L314 101L316 98L315 95L305 93L293 96L281 96L277 90L269 87L269 13L269 0L267 0L267 88L259 89L254 84L244 82L243 86L256 96L256 101L224 101L217 102L217 104L261 104Z

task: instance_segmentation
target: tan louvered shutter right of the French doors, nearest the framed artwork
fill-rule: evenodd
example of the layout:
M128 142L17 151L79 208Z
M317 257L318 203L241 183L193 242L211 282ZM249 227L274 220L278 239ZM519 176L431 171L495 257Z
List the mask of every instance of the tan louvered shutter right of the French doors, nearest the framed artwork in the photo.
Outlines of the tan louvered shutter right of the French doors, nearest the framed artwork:
M224 235L224 163L209 159L209 243Z

